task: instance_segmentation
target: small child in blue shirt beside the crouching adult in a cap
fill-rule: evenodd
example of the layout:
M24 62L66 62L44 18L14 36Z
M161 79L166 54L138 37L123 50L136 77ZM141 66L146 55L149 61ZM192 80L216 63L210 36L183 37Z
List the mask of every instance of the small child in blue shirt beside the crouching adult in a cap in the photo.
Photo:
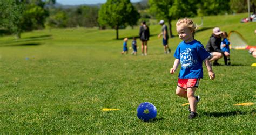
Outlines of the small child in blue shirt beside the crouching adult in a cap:
M230 42L227 39L228 38L227 32L223 32L221 34L221 37L223 38L223 40L221 41L220 48L225 54L224 55L225 65L231 65L231 62L230 62Z

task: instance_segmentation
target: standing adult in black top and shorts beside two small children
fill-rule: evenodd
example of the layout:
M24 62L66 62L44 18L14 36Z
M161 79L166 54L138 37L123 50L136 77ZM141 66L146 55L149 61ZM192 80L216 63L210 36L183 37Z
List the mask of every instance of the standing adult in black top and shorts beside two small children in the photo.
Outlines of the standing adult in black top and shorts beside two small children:
M139 27L139 39L142 41L142 55L147 55L147 41L149 41L150 32L149 26L146 25L146 22L143 21Z

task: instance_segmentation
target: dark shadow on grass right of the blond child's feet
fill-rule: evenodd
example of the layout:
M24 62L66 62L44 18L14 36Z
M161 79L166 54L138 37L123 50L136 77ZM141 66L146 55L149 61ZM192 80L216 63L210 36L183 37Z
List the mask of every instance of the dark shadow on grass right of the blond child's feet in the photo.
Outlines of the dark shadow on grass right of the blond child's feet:
M242 112L242 111L231 111L231 112L203 112L203 115L211 117L230 117L235 115L246 115L248 113L255 113L255 110L251 112Z

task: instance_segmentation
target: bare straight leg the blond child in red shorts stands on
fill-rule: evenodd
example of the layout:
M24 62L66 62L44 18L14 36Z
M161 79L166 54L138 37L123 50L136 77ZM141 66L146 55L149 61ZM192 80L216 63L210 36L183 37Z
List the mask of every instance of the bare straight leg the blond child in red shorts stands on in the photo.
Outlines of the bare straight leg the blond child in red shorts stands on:
M190 110L193 112L197 112L197 99L196 96L194 96L196 89L196 87L187 88L187 98L188 102L190 103Z

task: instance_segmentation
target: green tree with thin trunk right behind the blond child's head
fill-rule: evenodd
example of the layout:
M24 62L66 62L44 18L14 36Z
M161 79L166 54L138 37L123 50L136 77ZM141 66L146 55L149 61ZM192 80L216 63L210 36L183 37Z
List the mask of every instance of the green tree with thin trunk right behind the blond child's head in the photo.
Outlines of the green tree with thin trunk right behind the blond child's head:
M149 0L150 12L158 20L167 20L170 37L172 34L171 21L180 17L192 17L196 15L196 0Z

